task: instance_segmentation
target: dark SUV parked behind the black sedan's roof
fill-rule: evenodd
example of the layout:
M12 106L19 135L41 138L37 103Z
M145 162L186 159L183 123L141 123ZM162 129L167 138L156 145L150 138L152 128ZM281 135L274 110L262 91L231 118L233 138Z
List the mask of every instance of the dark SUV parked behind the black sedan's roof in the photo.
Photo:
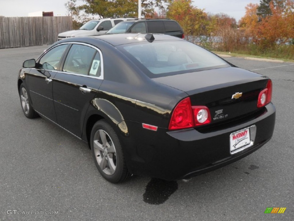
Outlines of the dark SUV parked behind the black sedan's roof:
M161 33L184 38L181 26L170 19L138 19L120 22L106 32L106 34L115 33Z

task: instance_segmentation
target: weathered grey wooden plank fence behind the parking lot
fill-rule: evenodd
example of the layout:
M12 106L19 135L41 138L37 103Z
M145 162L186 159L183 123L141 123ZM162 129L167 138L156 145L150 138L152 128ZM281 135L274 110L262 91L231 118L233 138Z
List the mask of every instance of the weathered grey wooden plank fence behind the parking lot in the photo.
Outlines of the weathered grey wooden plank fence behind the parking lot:
M72 30L71 16L0 17L0 48L52 44Z

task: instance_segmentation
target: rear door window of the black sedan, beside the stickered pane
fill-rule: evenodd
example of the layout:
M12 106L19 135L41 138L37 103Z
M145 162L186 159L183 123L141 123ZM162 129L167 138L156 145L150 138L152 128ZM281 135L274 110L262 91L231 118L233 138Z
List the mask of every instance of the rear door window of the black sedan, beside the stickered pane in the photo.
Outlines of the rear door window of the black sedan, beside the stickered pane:
M88 75L96 50L81 44L73 44L65 59L63 71Z

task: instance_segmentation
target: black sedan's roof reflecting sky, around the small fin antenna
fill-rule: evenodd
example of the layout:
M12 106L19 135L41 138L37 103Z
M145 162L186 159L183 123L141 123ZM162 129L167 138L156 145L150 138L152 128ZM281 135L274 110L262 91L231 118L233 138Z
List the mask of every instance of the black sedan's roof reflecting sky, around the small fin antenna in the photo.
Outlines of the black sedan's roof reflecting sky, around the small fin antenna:
M103 34L98 36L91 36L87 38L96 38L101 39L113 46L121 45L121 44L130 44L137 42L147 42L145 38L148 33L120 33L120 34ZM184 41L178 37L173 37L167 34L152 34L154 37L154 41L163 41L163 40L176 40L176 41ZM72 39L74 40L74 39Z

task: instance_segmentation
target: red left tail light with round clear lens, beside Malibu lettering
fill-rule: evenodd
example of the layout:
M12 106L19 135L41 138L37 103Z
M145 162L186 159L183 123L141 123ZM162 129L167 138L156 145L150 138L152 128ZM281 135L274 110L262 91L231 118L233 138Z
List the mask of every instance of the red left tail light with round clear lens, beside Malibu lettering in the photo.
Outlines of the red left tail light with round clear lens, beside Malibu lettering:
M200 126L211 122L206 106L192 106L190 98L185 98L176 105L169 123L169 130L178 130Z

